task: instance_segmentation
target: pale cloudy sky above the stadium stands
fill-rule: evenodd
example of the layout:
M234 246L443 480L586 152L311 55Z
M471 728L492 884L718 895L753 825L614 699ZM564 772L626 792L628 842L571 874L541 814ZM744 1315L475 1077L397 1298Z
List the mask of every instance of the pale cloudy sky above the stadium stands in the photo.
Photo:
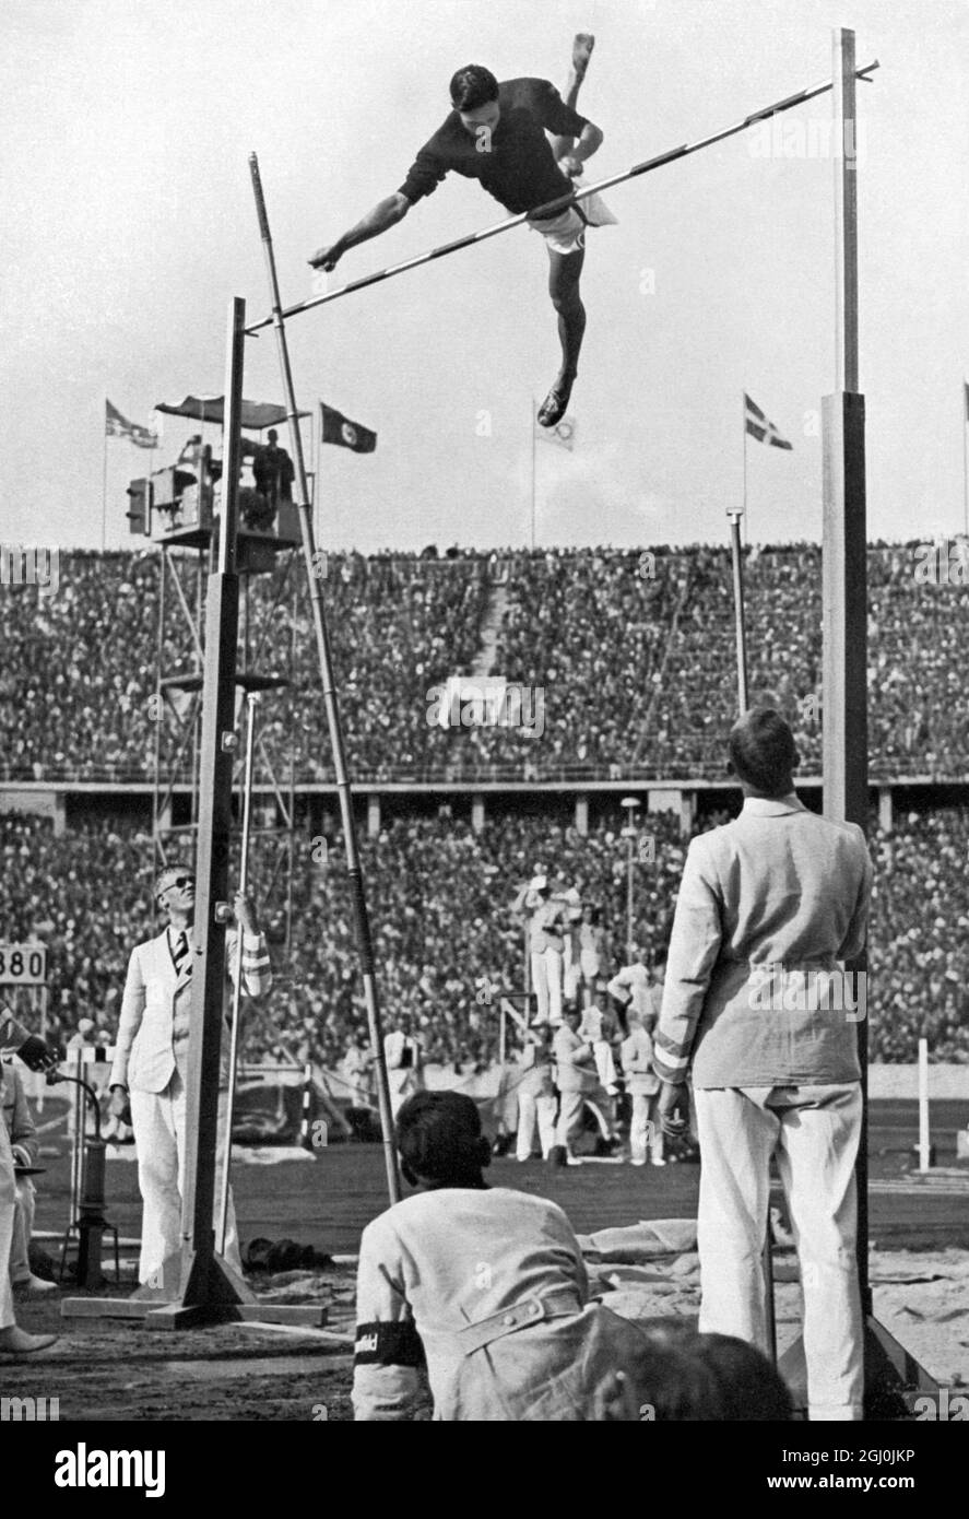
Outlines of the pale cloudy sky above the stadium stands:
M601 178L828 77L837 24L881 61L860 85L869 532L957 530L961 0L20 0L0 11L3 539L100 544L105 396L147 424L159 399L222 389L229 296L267 310L251 149L289 304L310 295L307 255L401 184L456 67L562 87L573 32L594 30L580 109L606 134ZM794 444L750 444L750 539L820 535L829 97L782 120L803 123L800 156L794 137L764 156L747 134L611 191L620 225L589 234L583 275L577 448L538 450L539 541L721 541L744 387ZM503 214L450 178L331 281ZM301 406L325 398L380 434L369 457L324 451L324 544L527 539L530 406L557 369L545 264L518 229L292 322ZM246 395L279 398L270 334L246 363ZM166 419L163 460L190 430ZM108 545L128 542L123 489L146 457L108 444Z

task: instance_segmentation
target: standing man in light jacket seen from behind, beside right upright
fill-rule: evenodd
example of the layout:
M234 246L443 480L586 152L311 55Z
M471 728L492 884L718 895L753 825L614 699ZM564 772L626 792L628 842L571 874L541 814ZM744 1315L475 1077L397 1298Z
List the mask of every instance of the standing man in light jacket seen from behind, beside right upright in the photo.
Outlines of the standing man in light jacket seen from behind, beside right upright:
M690 845L670 942L655 1069L667 1132L693 1074L702 1174L700 1331L767 1349L761 1246L776 1153L803 1287L813 1420L861 1419L855 1259L861 1135L857 1024L872 863L855 823L794 794L791 729L755 709L731 731L738 819Z

